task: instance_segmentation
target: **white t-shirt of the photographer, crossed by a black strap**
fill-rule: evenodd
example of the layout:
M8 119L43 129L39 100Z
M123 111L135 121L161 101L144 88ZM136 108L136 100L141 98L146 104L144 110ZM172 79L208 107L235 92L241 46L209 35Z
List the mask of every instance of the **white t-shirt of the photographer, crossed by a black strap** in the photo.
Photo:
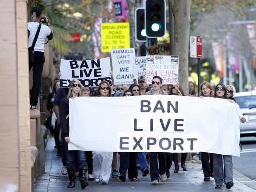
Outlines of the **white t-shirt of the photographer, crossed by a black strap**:
M37 32L37 28L39 27L38 22L30 22L28 23L28 30L30 31L30 35L28 37L28 47L32 46L33 40L35 38L35 33ZM51 30L45 25L41 25L41 29L37 38L37 42L35 43L34 51L44 52L45 50L45 38L50 35Z

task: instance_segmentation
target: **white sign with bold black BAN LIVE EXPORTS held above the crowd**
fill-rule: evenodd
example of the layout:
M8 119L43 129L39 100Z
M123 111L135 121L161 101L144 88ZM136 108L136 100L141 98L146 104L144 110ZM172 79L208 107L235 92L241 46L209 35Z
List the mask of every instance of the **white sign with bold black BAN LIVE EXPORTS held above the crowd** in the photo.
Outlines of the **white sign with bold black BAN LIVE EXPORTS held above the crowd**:
M111 83L109 57L95 60L65 60L60 62L60 85L69 87L72 79L78 79L83 87L96 87L101 81Z

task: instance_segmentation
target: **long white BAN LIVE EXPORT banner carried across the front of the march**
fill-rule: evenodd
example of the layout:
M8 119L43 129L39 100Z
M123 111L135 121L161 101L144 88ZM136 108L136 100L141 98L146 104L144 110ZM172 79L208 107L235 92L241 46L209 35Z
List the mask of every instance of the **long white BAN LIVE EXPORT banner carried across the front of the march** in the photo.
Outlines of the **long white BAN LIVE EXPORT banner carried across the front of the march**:
M235 103L173 95L69 100L69 150L210 152L239 156Z

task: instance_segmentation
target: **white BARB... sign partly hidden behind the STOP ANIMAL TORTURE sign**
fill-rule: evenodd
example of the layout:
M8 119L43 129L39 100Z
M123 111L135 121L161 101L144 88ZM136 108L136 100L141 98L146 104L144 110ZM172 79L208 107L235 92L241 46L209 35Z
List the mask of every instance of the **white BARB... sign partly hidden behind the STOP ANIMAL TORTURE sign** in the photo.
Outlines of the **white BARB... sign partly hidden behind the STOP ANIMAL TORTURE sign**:
M134 57L132 73L134 75L134 79L137 79L141 75L146 76L146 56Z

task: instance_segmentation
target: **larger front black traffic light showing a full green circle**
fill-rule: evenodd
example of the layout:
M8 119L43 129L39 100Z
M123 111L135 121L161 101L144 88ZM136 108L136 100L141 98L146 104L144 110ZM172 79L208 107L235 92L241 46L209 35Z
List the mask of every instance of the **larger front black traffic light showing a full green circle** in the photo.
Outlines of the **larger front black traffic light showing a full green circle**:
M165 0L146 0L145 28L148 38L165 35Z

